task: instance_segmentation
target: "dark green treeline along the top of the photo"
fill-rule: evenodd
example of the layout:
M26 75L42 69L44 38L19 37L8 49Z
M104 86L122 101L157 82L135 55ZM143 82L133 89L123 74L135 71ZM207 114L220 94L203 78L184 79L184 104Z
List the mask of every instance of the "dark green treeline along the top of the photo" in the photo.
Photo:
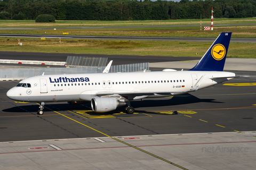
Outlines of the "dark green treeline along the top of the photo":
M50 14L57 20L167 20L256 16L256 0L180 2L145 0L0 0L0 19L35 20Z

